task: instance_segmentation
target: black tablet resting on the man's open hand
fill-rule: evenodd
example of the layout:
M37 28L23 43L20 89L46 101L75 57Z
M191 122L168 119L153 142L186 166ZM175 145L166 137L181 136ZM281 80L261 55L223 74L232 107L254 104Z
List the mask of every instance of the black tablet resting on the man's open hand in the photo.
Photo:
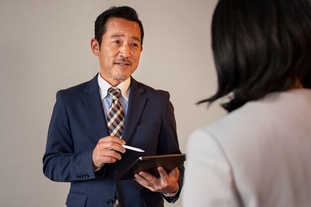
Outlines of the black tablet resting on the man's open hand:
M157 167L162 166L169 173L186 160L186 154L155 155L139 157L120 177L120 180L134 179L134 174L146 171L158 177Z

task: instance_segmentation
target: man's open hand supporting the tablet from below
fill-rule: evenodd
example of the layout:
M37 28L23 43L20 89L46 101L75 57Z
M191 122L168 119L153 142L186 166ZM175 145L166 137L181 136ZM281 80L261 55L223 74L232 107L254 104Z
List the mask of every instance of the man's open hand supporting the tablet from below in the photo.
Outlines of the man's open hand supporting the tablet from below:
M160 178L156 178L148 172L140 171L138 174L135 174L135 180L148 188L153 192L160 193L174 193L178 189L178 177L179 170L176 167L171 172L166 174L166 171L163 167L158 167L157 171L160 174Z

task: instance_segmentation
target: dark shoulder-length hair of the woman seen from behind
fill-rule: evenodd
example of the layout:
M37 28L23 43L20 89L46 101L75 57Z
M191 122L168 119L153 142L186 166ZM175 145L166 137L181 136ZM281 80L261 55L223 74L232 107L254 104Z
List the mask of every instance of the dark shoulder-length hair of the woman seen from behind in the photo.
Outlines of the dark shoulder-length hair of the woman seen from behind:
M311 88L311 6L308 0L219 0L212 22L218 91L209 102L232 111L300 80Z

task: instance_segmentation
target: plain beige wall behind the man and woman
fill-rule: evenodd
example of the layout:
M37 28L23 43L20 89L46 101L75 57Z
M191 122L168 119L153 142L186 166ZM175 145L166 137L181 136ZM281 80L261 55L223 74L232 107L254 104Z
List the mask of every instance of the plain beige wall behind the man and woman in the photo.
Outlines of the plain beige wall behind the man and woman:
M0 206L65 206L69 184L42 173L55 95L99 71L89 41L96 17L112 5L134 7L143 21L144 51L133 76L170 92L185 153L190 133L225 113L195 104L217 86L210 48L216 1L0 0Z

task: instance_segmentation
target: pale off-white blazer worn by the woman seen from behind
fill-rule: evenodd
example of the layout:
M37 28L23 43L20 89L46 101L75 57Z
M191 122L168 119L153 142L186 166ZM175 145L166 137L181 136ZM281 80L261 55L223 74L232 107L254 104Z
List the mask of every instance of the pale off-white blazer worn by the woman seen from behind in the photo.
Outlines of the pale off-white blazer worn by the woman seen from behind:
M311 90L271 93L190 136L183 207L311 207Z

